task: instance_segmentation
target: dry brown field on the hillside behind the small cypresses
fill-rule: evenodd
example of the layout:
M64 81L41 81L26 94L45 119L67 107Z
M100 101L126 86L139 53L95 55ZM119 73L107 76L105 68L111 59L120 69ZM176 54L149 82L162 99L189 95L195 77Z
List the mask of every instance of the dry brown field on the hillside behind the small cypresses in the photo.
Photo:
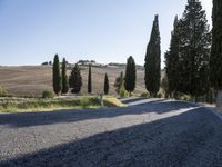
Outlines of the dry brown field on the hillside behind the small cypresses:
M103 91L104 73L110 80L110 94L114 91L114 80L124 71L123 68L115 67L92 67L92 90L94 94ZM68 70L68 75L70 70ZM81 67L83 87L81 92L87 94L88 68ZM138 70L137 88L134 94L140 95L145 91L144 71ZM20 66L0 67L0 85L10 94L40 96L44 89L52 89L52 67L51 66Z

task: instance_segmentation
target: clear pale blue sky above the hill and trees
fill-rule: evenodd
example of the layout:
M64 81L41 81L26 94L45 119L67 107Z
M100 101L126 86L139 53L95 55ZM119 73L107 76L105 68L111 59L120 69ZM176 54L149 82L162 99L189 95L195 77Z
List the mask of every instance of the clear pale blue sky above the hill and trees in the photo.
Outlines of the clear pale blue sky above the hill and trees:
M201 0L211 24L212 0ZM154 14L159 14L161 67L175 14L186 0L0 0L0 65L40 65L58 53L71 63L144 65Z

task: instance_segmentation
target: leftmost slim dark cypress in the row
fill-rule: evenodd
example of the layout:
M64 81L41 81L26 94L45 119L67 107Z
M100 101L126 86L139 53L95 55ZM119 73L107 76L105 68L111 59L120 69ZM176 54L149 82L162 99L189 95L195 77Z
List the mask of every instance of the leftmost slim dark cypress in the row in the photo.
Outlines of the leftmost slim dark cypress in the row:
M62 89L62 81L61 81L61 73L60 73L60 62L59 62L59 56L54 56L54 61L53 61L53 90L57 95L60 94Z

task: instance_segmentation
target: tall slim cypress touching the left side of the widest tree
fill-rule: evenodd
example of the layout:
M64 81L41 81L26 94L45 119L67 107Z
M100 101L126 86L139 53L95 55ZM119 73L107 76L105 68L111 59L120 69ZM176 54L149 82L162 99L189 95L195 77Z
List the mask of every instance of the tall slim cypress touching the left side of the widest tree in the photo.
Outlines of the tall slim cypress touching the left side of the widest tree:
M168 76L168 91L176 98L178 78L179 78L179 35L178 35L178 16L174 19L174 29L171 32L170 50L165 52L165 71Z

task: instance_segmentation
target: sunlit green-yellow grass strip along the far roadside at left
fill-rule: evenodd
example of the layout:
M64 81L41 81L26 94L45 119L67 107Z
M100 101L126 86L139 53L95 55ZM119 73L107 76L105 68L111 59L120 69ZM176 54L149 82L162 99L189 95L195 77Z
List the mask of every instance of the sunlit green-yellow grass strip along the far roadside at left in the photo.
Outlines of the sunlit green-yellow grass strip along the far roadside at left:
M121 101L114 97L104 97L104 107L124 107ZM22 112L22 111L50 111L61 109L85 109L100 108L100 98L98 96L78 97L73 99L7 99L0 104L0 112Z

